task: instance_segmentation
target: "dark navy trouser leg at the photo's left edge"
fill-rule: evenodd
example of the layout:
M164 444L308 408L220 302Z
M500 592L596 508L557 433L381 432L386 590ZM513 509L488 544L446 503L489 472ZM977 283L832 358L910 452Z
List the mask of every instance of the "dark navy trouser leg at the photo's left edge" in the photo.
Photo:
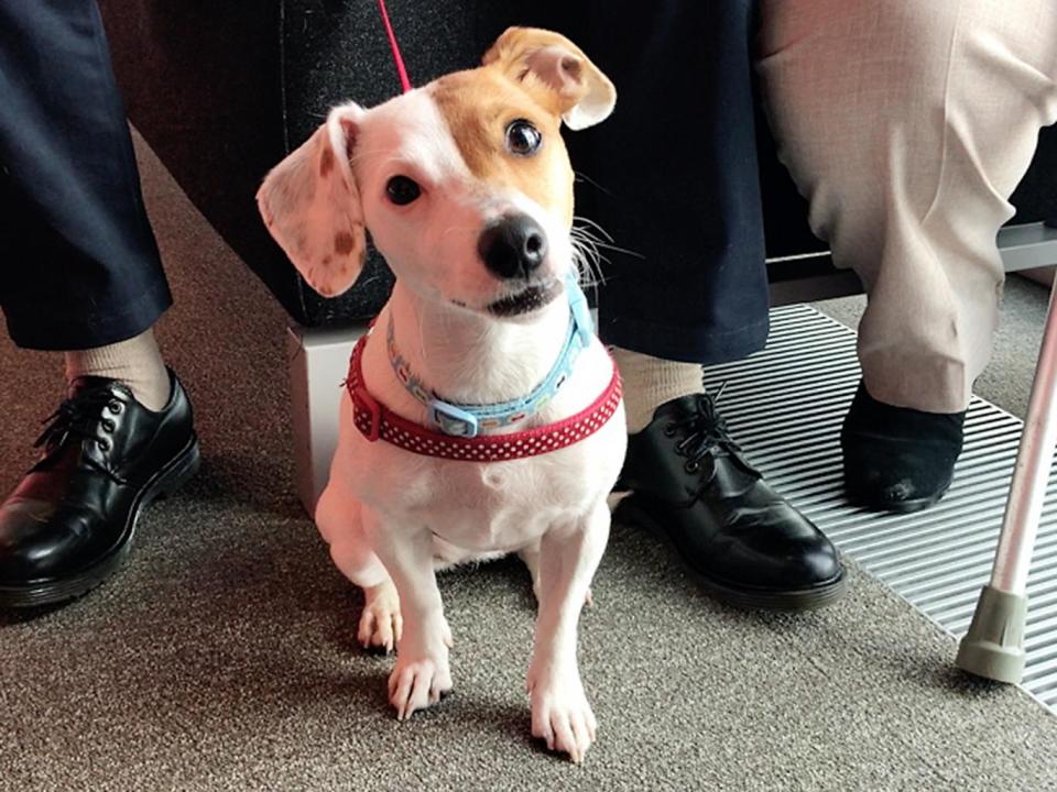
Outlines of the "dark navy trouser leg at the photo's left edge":
M172 298L95 0L0 2L0 308L20 346L150 328Z

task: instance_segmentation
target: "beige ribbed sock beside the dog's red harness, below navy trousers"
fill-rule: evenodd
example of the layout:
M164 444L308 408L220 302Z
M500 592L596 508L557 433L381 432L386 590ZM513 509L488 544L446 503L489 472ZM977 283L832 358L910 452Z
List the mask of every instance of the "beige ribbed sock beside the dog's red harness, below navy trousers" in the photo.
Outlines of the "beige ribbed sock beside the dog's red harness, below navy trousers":
M632 435L644 429L665 402L705 391L697 363L666 361L620 346L613 348L613 360L624 381L624 409Z

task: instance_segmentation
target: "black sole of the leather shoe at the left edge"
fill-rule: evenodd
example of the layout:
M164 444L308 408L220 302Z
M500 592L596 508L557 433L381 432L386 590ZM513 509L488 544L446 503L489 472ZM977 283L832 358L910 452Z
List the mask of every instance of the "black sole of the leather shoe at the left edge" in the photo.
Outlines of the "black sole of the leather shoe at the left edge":
M0 608L37 608L62 605L81 597L110 578L132 551L132 539L140 513L154 501L166 498L178 491L198 472L201 457L198 436L192 432L190 440L162 470L140 491L132 504L120 544L88 569L61 581L35 583L28 586L0 586Z

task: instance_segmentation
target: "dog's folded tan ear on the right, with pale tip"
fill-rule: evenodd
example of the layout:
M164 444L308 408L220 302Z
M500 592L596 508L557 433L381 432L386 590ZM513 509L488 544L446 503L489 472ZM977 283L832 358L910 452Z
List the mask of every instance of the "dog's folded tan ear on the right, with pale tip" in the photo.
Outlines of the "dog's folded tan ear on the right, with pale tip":
M552 107L573 130L604 121L617 103L617 89L578 46L537 28L508 28L484 53L510 79Z

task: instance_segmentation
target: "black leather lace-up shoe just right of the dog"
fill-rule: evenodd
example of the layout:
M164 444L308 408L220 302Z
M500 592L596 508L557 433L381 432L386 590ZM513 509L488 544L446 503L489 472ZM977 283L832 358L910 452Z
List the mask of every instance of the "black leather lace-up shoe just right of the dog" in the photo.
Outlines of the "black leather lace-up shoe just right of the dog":
M826 605L844 590L832 543L777 495L706 394L657 408L628 441L619 521L666 538L698 582L739 607Z

